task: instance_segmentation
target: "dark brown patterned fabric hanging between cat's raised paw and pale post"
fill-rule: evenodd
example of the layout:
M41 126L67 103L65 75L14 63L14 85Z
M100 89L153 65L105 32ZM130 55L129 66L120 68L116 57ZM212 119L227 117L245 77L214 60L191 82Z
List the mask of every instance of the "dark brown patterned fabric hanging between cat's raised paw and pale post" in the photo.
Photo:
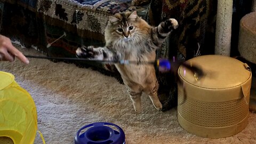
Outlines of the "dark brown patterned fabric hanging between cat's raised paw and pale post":
M166 18L175 18L179 22L178 30L166 45L169 54L177 57L179 52L184 59L190 59L196 56L198 49L201 54L214 52L217 1L153 0L150 7L149 21L154 25Z

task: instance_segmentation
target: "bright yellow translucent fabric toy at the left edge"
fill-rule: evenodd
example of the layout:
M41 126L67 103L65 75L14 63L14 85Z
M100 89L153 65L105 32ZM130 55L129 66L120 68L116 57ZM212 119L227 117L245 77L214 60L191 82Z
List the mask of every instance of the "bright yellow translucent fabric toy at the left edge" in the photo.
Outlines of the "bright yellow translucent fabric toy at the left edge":
M0 71L0 79L0 137L9 137L14 144L34 143L37 113L33 98L12 74Z

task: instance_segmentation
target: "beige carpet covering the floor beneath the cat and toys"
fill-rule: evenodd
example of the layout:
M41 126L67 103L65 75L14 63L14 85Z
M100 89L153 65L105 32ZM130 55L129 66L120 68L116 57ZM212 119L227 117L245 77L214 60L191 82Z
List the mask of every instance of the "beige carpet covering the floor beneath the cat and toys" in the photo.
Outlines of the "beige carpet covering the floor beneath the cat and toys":
M22 52L41 54L34 49ZM74 143L82 126L102 121L121 126L128 144L256 143L256 114L251 112L247 127L233 137L201 138L182 129L177 109L157 111L146 95L142 97L142 113L135 114L125 86L98 71L43 59L30 59L29 65L18 60L0 62L0 70L12 73L34 98L38 129L47 144ZM0 143L7 140L1 138ZM35 143L42 143L38 133Z

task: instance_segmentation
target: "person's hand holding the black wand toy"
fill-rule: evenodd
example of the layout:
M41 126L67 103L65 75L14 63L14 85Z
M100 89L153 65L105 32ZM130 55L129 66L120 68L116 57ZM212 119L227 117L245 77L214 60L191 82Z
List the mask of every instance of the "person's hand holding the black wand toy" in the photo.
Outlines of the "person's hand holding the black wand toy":
M12 45L10 38L0 35L0 61L12 62L15 57L23 63L29 63L29 60Z

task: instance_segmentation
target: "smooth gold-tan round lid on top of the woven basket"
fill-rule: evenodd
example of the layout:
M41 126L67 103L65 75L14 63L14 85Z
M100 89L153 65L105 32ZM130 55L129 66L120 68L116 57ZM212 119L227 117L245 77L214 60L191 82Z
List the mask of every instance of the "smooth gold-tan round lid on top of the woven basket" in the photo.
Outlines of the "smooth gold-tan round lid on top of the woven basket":
M197 81L191 71L180 66L179 76L187 83L205 89L228 89L242 85L251 77L245 63L223 55L203 55L187 62L202 68L205 75Z

